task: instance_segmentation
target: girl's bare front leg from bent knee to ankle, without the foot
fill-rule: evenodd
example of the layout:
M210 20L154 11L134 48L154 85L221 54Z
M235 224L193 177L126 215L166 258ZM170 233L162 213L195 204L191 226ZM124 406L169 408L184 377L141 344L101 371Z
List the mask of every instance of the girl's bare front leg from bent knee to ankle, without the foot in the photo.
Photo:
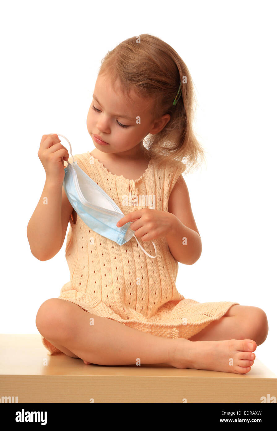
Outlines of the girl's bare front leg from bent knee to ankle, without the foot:
M175 339L137 331L58 298L40 306L36 324L40 334L64 353L99 365L132 365L138 361L168 364L177 346Z

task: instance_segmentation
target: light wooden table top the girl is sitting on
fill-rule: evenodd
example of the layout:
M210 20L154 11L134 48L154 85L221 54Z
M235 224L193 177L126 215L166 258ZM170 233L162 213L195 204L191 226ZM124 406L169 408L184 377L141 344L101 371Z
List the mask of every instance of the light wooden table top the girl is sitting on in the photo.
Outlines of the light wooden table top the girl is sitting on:
M47 354L40 334L0 334L1 397L18 403L261 403L277 376L259 359L246 375L159 365L85 365Z

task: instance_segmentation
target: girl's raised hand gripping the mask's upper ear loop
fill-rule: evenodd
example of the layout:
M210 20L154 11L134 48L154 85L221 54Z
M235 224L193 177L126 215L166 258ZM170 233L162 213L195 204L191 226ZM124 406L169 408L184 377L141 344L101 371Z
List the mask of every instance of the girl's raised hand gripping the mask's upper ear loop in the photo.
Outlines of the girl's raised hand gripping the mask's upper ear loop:
M58 135L43 135L37 155L46 172L46 180L62 183L65 178L64 160L68 161L69 154Z

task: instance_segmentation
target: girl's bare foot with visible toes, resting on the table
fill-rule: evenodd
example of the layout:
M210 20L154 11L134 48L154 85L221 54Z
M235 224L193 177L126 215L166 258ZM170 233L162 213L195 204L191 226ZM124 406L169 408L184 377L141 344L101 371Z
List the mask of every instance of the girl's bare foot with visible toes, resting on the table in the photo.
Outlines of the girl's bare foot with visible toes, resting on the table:
M252 343L252 347L248 343ZM246 374L254 363L255 353L252 352L256 348L253 340L190 341L179 338L170 365Z

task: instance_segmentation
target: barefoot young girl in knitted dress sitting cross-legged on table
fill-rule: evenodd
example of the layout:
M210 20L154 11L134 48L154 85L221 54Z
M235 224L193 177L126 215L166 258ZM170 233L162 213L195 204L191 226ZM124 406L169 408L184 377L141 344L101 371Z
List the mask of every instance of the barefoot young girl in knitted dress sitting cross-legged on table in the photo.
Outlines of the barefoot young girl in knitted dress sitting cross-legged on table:
M192 265L202 249L182 177L203 157L193 113L188 68L159 38L131 37L102 60L87 116L95 149L74 160L122 210L117 226L132 222L148 254L134 237L118 245L83 222L63 188L64 160L73 158L57 134L43 135L46 182L27 228L33 255L55 256L70 223L70 281L36 318L49 354L85 364L250 371L267 337L265 312L232 301L198 303L175 286L178 262ZM149 257L151 240L156 257Z

